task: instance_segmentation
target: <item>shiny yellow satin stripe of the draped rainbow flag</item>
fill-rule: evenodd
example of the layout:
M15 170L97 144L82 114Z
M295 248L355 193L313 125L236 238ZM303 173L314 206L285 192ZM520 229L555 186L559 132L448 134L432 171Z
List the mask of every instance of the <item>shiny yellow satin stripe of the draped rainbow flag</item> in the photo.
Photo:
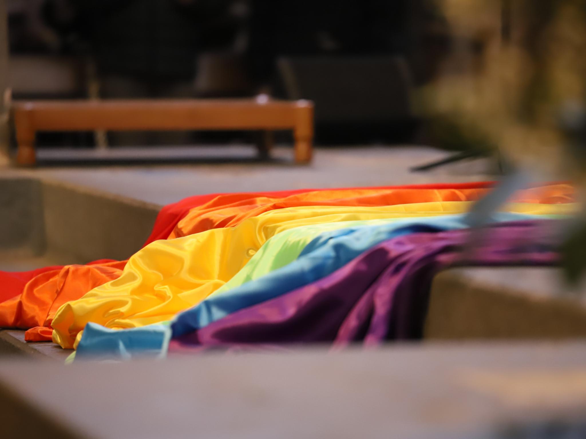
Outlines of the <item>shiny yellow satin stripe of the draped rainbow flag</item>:
M456 214L469 202L404 204L384 207L308 206L265 212L233 228L185 238L155 241L128 261L119 279L64 304L53 318L53 341L73 347L90 321L123 329L169 320L231 279L271 236L308 224L393 217L421 212ZM512 204L517 212L564 214L571 204Z

